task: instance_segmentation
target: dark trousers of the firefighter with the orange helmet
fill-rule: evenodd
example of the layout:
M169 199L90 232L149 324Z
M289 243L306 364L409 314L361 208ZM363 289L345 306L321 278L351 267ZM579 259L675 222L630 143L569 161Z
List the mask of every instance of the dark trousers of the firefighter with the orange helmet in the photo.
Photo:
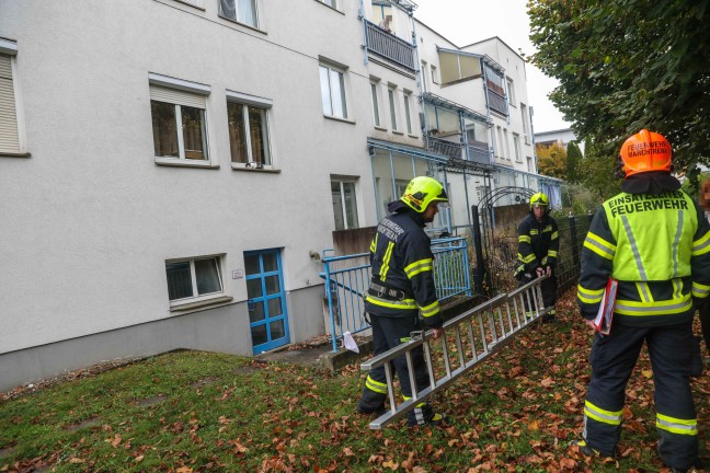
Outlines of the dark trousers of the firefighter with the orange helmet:
M583 436L589 447L614 455L621 434L625 391L645 341L655 385L659 455L685 471L698 460L698 424L690 391L692 324L634 327L615 324L595 335L592 379L584 406Z

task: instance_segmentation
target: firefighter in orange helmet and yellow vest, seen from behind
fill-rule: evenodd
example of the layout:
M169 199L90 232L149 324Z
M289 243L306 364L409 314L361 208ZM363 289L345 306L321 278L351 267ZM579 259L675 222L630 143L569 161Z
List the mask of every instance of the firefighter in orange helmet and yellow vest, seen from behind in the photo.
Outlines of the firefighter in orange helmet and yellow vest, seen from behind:
M710 224L671 175L671 143L641 130L621 147L621 194L595 215L582 250L577 303L587 325L609 277L618 281L611 331L595 334L584 404L586 455L614 457L626 384L646 343L655 385L657 452L674 472L698 463L689 377L702 370L694 299L710 293Z

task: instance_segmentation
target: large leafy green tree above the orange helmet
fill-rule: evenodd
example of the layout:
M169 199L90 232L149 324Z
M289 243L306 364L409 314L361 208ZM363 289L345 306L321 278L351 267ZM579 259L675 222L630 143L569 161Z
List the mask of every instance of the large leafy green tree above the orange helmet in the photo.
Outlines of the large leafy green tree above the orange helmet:
M710 163L710 0L530 0L528 14L532 62L560 81L550 99L599 158L648 128L676 171Z

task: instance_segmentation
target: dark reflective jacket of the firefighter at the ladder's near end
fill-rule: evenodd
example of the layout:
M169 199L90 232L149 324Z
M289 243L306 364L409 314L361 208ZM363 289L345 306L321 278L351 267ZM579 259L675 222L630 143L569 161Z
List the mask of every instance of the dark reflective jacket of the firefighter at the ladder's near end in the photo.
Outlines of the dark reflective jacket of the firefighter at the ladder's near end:
M422 217L402 210L385 217L370 244L373 285L365 309L373 315L416 316L431 327L442 326L434 285L434 255ZM381 287L388 291L373 289Z

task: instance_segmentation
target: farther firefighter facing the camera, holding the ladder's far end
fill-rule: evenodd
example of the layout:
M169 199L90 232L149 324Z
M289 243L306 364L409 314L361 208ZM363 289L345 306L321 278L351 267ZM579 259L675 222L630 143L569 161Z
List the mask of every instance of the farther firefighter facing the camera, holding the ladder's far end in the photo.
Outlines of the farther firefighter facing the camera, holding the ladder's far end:
M518 287L525 286L541 276L547 278L541 282L542 303L549 311L542 316L542 322L556 322L554 302L557 299L557 264L560 239L557 221L550 217L550 199L542 193L530 197L530 214L518 226L518 267L515 278ZM527 307L528 316L534 311Z

